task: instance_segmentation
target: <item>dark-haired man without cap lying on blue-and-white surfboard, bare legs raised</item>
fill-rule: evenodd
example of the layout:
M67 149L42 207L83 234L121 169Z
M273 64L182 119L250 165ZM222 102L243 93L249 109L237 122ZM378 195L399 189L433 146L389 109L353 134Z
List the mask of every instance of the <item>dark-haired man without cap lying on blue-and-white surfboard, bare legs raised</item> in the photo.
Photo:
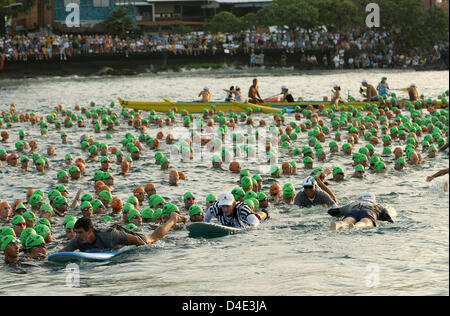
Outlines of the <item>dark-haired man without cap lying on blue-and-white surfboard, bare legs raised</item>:
M74 226L76 237L59 252L89 249L117 249L125 245L143 246L154 243L163 238L177 223L186 222L187 218L173 212L164 224L161 224L150 236L144 234L132 235L122 231L98 231L88 218L80 218Z

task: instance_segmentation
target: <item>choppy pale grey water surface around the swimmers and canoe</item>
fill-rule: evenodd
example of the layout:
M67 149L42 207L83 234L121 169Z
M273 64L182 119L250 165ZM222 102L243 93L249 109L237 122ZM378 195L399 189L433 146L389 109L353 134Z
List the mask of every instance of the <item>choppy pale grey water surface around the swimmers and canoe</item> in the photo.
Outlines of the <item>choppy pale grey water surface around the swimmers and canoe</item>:
M217 71L202 73L168 73L141 75L135 77L106 78L42 78L29 80L0 81L0 109L8 109L15 103L19 110L34 111L45 115L58 104L66 108L74 105L88 105L95 101L109 105L117 97L128 100L158 100L170 97L174 100L195 99L203 86L211 88L213 98L221 100L222 89L239 85L247 92L253 77L260 81L263 97L279 92L282 84L288 85L295 97L321 99L330 94L332 83L340 83L344 96L347 93L358 96L359 82L365 78L376 84L385 72L327 72L298 74L291 70L258 73L238 71ZM448 89L448 72L387 72L391 88L404 88L415 82L426 96L435 97ZM347 92L349 90L349 92ZM401 92L400 92L401 94ZM116 106L116 110L118 110ZM144 114L146 117L147 115ZM256 117L260 118L260 117ZM270 115L264 115L272 122ZM293 117L287 118L287 123ZM303 119L304 120L304 119ZM330 125L330 121L326 121ZM177 125L181 120L177 121ZM119 131L113 132L113 139L106 139L106 132L94 134L91 126L73 128L71 144L61 144L59 132L50 127L49 137L40 136L39 127L15 124L10 130L8 144L0 148L10 151L18 140L18 131L25 129L27 139L36 139L39 153L46 155L47 145L55 146L57 154L51 158L52 169L39 175L33 168L24 175L19 169L3 164L0 167L0 199L12 203L25 200L29 187L39 187L45 193L56 184L56 173L62 168L64 155L72 153L74 158L84 157L79 136L83 133L106 142L110 148L120 147L125 133L139 133L123 121ZM63 129L64 130L64 129ZM152 137L157 129L147 130ZM167 134L169 129L163 128ZM305 145L303 134L294 143ZM327 144L330 140L327 139ZM365 145L363 140L356 149ZM393 147L398 145L393 144ZM324 147L325 147L324 146ZM162 144L162 151L168 154L168 145ZM381 153L382 146L378 146ZM177 170L187 175L187 181L180 181L178 187L168 186L169 172L163 172L154 165L154 152L148 148L143 158L135 162L131 176L119 176L119 166L112 164L116 191L127 199L138 185L152 182L158 193L167 201L182 205L182 196L192 191L197 201L204 206L208 193L217 195L236 186L237 176L232 175L224 164L223 171L213 171L209 161L173 162ZM286 150L280 149L280 162L290 161ZM300 161L298 161L300 162ZM344 167L351 174L351 161L343 156L329 157L325 163L315 166ZM83 263L80 266L80 288L66 286L64 266L47 262L33 262L20 266L0 263L1 295L20 294L70 294L70 295L448 295L449 272L449 196L442 186L448 177L427 183L427 175L448 167L448 152L439 153L435 160L425 160L417 168L407 172L393 171L390 174L372 175L357 181L346 180L332 183L331 188L342 204L358 198L365 191L377 194L381 203L392 205L398 212L394 224L383 223L380 227L366 230L331 232L332 218L325 210L286 213L272 208L269 223L257 231L220 239L191 239L186 229L171 231L162 241L141 247L109 263ZM299 166L302 166L300 162ZM99 162L86 168L86 175L77 182L67 185L71 201L78 188L94 193L92 176L100 167ZM255 164L245 163L253 173L259 172ZM298 175L282 177L283 185L292 182L297 189L309 172L299 168ZM264 176L264 191L274 180ZM144 208L147 204L144 205ZM75 214L79 216L80 214ZM97 218L99 221L99 218ZM62 219L54 219L53 232L60 236ZM150 231L144 225L144 231ZM61 239L60 239L61 240ZM49 252L59 249L64 242L57 242ZM53 249L52 249L53 248ZM3 255L2 255L3 256ZM1 259L2 260L2 259ZM374 284L374 272L379 271L379 283ZM372 283L371 283L372 282ZM375 282L376 283L376 282ZM368 286L369 285L369 286ZM45 289L45 292L43 290Z

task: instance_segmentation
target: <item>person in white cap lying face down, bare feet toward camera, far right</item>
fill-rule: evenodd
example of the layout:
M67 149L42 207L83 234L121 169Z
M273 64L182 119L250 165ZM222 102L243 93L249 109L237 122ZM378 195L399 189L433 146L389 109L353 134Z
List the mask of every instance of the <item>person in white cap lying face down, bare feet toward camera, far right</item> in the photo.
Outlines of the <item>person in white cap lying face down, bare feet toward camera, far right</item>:
M376 202L376 197L373 193L364 193L358 201L348 205L332 207L328 210L328 214L336 217L344 216L342 221L331 223L331 230L374 227L377 226L377 220L394 222L389 211Z

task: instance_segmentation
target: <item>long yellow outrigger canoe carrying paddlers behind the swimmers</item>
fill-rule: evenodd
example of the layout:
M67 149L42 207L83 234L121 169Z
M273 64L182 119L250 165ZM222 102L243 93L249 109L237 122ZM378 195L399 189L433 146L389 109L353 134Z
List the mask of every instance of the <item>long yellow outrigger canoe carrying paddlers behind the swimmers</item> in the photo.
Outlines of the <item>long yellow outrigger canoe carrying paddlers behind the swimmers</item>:
M130 108L134 110L141 111L155 111L155 112L167 112L170 109L177 108L178 110L186 109L190 113L202 113L205 109L210 109L212 105L216 107L217 111L222 112L246 112L247 108L251 108L253 111L256 107L259 107L263 113L276 113L281 109L286 108L288 112L294 112L295 108L299 106L305 109L307 106L311 105L314 109L319 109L320 105L323 105L325 109L329 109L333 104L329 101L298 101L298 102L265 102L260 104L252 104L245 102L183 102L183 101L172 101L170 99L164 99L164 101L127 101L119 98L120 105L124 108ZM339 106L344 105L346 108L350 105L353 107L364 107L367 102L354 101L354 102L341 102ZM380 102L370 102L370 104L380 105ZM437 107L442 106L442 102L438 101L436 103ZM448 102L446 103L448 106Z

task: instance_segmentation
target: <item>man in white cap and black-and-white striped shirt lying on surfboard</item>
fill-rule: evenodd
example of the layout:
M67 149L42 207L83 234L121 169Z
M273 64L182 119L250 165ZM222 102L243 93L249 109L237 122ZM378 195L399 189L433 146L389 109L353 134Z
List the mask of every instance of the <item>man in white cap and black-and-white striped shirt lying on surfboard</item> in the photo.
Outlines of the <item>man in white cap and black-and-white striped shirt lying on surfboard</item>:
M206 212L205 222L209 223L212 216L223 226L256 229L269 214L265 210L254 213L243 202L236 202L231 193L223 193L219 196L219 201L211 205Z

